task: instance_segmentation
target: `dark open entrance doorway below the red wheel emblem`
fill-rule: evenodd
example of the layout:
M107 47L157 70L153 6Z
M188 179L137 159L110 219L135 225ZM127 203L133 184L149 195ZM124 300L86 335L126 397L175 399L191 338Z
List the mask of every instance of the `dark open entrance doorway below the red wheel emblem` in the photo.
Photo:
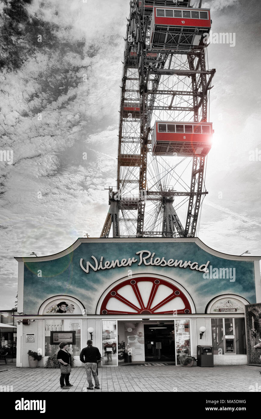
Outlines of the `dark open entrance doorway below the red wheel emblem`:
M144 324L145 361L175 363L175 330L169 323Z

